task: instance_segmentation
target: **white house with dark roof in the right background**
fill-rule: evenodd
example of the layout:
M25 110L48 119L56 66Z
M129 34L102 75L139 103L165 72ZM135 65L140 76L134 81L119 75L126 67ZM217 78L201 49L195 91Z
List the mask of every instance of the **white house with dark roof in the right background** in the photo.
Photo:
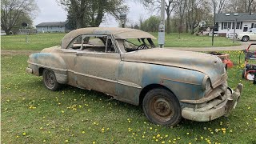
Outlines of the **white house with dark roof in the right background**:
M256 28L256 14L248 13L223 13L215 15L216 25L218 26L218 33L220 36L227 36L240 34Z

